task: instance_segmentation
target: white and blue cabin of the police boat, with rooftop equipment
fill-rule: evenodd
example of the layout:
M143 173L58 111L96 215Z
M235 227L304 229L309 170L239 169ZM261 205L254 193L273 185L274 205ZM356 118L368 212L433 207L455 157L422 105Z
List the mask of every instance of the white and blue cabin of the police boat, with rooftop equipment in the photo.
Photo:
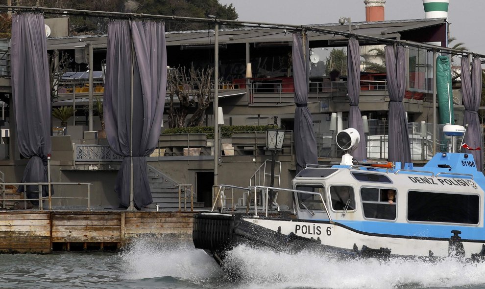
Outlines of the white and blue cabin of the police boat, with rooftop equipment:
M451 129L450 135L463 135ZM337 137L349 151L359 141L350 135L345 144ZM485 178L471 154L439 153L423 167L405 164L404 169L400 163L355 163L347 155L332 167L308 165L292 187L299 191L293 194L297 219L338 221L374 232L390 223L483 228Z

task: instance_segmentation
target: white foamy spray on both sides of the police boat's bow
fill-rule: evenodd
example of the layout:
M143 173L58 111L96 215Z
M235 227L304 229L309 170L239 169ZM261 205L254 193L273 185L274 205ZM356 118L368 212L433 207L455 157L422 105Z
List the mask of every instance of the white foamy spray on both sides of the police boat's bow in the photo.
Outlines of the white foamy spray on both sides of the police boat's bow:
M228 266L238 268L242 276L232 283L211 256L188 242L138 239L121 255L126 279L170 276L172 288L414 289L485 285L485 263L464 264L453 258L438 262L341 260L308 251L275 253L240 245L226 255Z

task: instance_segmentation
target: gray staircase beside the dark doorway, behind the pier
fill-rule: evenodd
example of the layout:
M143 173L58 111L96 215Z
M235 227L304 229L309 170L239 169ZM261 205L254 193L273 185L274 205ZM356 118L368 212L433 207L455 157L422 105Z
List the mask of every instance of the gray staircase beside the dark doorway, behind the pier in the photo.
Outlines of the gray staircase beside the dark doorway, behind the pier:
M153 198L153 203L148 205L148 208L155 208L158 204L161 209L176 208L178 210L179 184L152 166L147 165L147 172L150 192ZM196 197L194 195L194 208L204 207L203 202L195 202L195 200ZM181 201L181 207L183 210L184 200ZM190 210L190 200L187 201L187 210Z

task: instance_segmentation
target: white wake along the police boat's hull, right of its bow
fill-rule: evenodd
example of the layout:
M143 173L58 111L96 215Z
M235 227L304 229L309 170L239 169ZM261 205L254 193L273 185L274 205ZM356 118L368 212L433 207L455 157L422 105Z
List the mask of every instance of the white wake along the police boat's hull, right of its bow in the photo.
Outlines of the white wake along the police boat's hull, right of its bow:
M447 258L439 262L392 259L336 259L238 246L228 252L226 261L236 263L247 288L451 288L479 287L485 284L485 263L463 264Z

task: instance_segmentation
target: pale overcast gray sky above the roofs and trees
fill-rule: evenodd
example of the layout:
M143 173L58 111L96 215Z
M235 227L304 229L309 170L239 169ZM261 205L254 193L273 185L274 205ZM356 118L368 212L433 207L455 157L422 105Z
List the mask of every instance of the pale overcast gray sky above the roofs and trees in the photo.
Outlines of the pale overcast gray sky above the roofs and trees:
M337 23L340 17L365 21L364 0L219 0L233 4L240 21L282 24ZM387 0L386 20L423 19L422 0ZM471 51L485 54L485 0L450 0L450 34Z

